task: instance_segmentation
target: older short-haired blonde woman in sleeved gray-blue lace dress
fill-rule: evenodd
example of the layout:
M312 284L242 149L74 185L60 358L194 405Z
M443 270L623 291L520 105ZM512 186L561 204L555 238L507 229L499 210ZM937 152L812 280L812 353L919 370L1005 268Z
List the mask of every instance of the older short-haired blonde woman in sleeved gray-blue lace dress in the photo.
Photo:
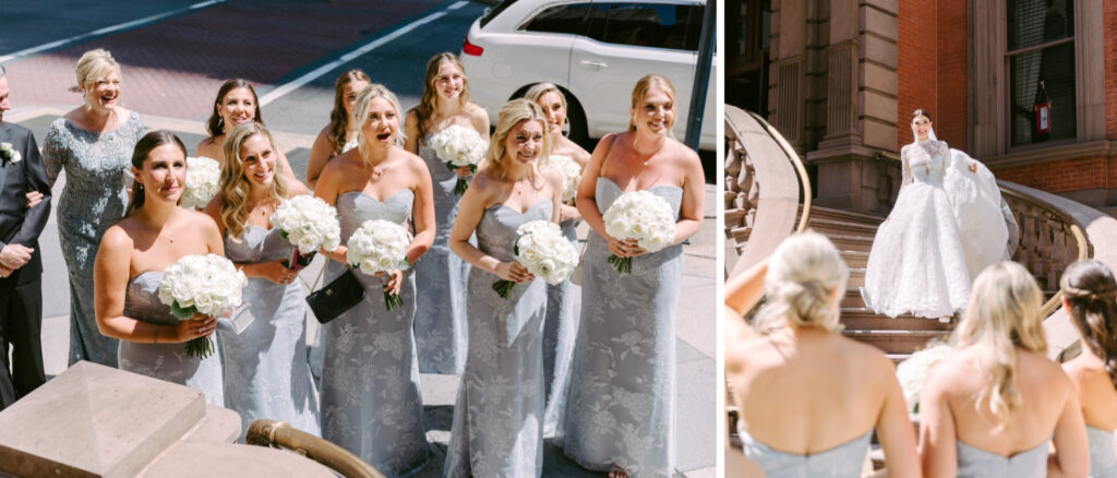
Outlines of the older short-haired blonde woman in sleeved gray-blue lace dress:
M143 135L140 115L120 106L121 66L108 51L86 51L77 63L85 104L50 124L42 161L51 185L66 171L58 200L58 239L70 286L69 364L87 360L116 366L116 340L97 332L93 259L105 230L124 216L128 160Z

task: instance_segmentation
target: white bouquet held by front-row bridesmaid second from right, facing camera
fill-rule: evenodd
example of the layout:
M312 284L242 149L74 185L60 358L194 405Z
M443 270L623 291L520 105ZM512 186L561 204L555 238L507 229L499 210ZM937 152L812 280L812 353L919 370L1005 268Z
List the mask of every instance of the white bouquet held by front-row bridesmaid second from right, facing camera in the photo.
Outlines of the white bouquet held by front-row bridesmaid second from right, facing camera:
M577 267L577 250L551 221L535 220L517 228L513 252L527 271L551 285L566 280ZM512 280L500 279L493 283L493 290L506 299L515 286Z

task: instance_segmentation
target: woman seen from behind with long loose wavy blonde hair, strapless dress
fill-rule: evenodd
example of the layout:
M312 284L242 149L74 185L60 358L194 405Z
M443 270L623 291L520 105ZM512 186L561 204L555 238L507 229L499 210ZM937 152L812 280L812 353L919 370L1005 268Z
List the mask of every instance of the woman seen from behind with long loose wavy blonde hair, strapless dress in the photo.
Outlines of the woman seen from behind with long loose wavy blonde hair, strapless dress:
M930 370L919 396L925 477L1086 476L1082 410L1047 357L1042 299L1016 262L977 276L952 337L957 352Z

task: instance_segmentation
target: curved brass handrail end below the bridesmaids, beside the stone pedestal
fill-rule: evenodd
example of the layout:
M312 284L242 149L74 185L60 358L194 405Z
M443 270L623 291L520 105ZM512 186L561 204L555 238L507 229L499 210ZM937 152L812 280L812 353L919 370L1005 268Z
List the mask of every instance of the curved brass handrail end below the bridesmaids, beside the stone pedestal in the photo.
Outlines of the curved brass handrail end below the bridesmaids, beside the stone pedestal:
M327 440L296 429L284 421L260 419L248 426L248 444L294 451L347 478L384 478L372 465Z

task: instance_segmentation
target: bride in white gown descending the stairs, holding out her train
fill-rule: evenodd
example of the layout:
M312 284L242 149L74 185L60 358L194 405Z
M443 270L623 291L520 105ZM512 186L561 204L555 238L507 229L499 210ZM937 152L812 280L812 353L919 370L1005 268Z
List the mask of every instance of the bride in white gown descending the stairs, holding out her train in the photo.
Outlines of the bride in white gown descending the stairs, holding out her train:
M930 116L911 115L916 141L900 150L904 182L877 229L861 296L878 314L948 321L973 278L1009 256L1011 211L993 174L935 138Z

